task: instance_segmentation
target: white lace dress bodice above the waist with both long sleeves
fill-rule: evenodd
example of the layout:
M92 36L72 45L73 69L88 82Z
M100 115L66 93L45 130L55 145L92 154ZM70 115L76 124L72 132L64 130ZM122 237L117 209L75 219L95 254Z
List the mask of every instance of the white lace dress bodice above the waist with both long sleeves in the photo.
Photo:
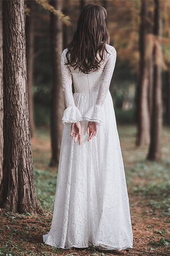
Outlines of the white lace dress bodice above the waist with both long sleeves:
M91 120L99 120L100 112L103 108L105 97L107 96L109 85L116 63L116 49L109 44L106 44L107 52L105 51L104 60L101 61L97 71L91 71L86 74L78 68L73 68L67 65L66 52L67 48L63 49L61 55L61 74L62 74L62 90L64 92L66 109L63 113L63 123L68 123L70 120L79 121L84 119L79 109L76 107L72 92L72 83L75 93L90 93L96 92L96 100L94 105L89 109ZM99 54L99 53L98 53ZM87 115L86 115L87 117Z

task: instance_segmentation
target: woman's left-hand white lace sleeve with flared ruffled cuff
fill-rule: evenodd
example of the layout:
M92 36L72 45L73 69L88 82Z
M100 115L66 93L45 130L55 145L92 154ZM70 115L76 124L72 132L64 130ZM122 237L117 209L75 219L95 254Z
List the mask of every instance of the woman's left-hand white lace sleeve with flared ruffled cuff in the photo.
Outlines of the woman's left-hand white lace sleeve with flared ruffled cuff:
M72 75L68 65L65 65L66 49L61 54L61 75L62 75L62 90L64 92L66 109L63 112L62 122L64 125L67 123L75 123L83 120L82 114L75 106L73 92L72 92Z

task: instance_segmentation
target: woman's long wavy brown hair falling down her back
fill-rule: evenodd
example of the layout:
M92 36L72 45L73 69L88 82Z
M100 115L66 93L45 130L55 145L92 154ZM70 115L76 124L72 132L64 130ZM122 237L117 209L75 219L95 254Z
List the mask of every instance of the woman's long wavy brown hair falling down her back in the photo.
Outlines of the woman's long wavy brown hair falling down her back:
M109 44L109 31L105 19L107 10L103 6L89 3L84 6L77 22L73 40L67 44L67 63L83 73L96 71ZM97 59L99 53L100 59Z

